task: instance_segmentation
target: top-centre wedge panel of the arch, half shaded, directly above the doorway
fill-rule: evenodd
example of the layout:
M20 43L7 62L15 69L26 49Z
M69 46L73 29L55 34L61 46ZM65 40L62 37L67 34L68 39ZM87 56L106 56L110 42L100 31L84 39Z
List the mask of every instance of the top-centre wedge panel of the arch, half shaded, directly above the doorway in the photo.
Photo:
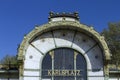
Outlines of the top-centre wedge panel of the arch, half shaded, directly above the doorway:
M72 45L74 31L56 30L53 32L57 47L70 47Z

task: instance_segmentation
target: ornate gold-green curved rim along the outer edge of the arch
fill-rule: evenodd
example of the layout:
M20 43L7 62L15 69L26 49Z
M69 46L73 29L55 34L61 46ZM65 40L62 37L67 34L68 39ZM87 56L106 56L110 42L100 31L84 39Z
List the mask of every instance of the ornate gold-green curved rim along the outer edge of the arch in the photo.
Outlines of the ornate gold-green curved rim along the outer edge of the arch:
M93 37L96 41L98 41L99 45L101 46L103 50L104 59L110 60L109 48L107 46L107 43L105 42L104 37L101 36L98 32L96 32L93 29L93 27L88 27L86 25L80 24L79 22L73 22L73 21L49 22L42 26L35 27L34 30L32 30L29 34L24 36L24 39L18 49L18 60L24 59L25 50L27 49L29 42L31 42L35 37L50 30L63 29L63 28L81 31L86 33L88 36Z

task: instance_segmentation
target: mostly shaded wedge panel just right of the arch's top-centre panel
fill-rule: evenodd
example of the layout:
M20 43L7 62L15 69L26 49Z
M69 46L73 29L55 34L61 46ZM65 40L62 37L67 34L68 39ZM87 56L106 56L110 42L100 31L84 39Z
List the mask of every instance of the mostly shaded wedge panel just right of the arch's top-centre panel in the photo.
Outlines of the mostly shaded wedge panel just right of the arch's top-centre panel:
M83 50L82 52L85 53L93 45L95 45L96 42L92 38L86 36L85 34L77 32L73 43L73 48Z

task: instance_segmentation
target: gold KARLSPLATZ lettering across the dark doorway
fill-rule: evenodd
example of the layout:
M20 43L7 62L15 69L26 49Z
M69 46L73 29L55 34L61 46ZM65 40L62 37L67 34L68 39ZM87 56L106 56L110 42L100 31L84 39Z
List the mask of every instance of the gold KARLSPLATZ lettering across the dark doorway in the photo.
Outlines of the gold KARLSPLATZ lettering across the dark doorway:
M47 76L80 76L80 70L48 70Z

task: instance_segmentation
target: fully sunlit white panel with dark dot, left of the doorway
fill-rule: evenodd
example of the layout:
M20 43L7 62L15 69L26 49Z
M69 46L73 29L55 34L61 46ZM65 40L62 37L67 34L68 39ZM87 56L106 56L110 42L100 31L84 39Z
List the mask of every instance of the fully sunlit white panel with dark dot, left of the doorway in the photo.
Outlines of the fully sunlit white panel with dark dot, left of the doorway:
M24 69L39 69L42 56L39 51L30 45L26 51Z

